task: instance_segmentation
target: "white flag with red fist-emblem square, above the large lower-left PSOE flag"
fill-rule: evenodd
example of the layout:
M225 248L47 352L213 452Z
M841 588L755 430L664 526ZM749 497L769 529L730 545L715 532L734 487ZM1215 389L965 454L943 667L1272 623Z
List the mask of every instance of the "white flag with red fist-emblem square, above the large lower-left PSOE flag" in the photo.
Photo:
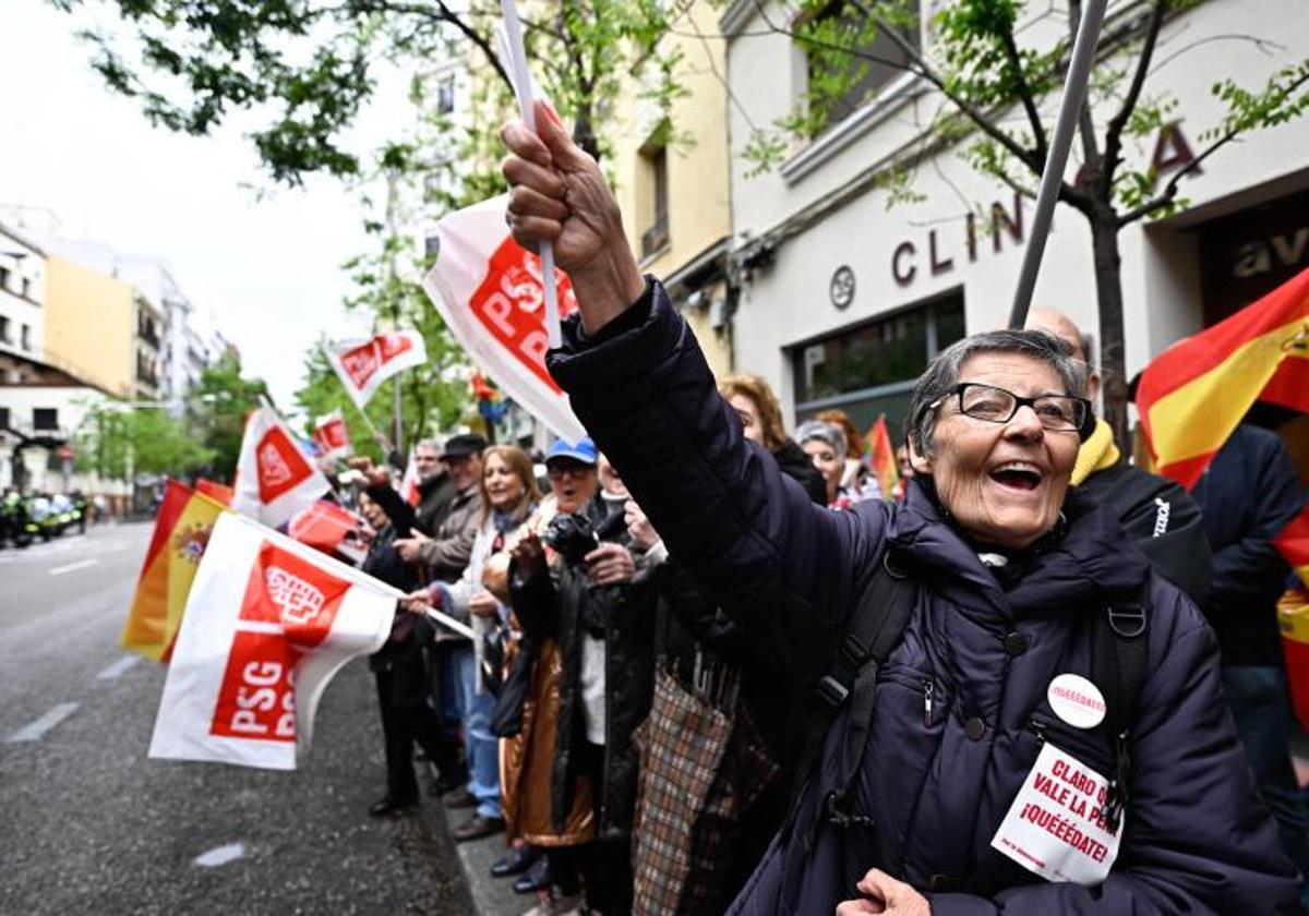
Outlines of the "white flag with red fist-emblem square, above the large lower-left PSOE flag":
M233 509L276 527L330 488L272 408L260 407L250 415L237 459Z

